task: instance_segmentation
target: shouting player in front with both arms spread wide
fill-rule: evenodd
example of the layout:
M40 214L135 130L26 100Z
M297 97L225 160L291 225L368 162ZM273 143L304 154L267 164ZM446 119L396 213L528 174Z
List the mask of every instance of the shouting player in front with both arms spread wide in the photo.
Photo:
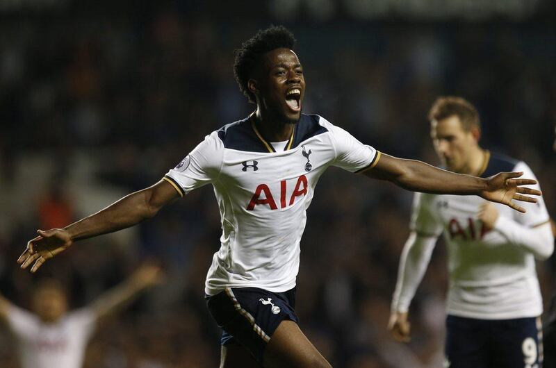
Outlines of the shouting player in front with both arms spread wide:
M534 183L500 174L481 179L382 155L318 115L304 115L303 68L295 39L268 28L236 51L240 90L256 110L207 135L158 183L63 229L39 231L19 258L42 263L76 240L117 231L202 185L212 184L220 250L206 278L208 309L224 330L221 367L330 367L297 326L295 278L306 209L320 175L334 165L408 190L477 194L523 210L512 199L539 194ZM349 190L349 188L338 188ZM333 209L332 209L333 210Z

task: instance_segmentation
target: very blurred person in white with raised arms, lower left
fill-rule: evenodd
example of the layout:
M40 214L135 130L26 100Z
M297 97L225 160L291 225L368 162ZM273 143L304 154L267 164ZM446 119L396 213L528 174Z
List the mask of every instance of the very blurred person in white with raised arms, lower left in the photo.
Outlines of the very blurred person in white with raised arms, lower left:
M160 278L158 267L142 266L90 306L71 312L67 312L67 296L60 283L42 281L33 293L32 312L0 295L0 318L16 338L22 368L79 368L99 320Z

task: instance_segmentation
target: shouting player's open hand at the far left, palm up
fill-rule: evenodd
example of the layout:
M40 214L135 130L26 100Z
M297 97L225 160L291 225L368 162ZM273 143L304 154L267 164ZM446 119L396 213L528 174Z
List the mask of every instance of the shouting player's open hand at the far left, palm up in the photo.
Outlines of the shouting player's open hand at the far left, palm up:
M72 237L62 228L53 228L48 231L38 230L38 237L27 242L27 248L17 259L17 263L26 269L31 263L31 272L35 273L48 259L65 251L72 244Z

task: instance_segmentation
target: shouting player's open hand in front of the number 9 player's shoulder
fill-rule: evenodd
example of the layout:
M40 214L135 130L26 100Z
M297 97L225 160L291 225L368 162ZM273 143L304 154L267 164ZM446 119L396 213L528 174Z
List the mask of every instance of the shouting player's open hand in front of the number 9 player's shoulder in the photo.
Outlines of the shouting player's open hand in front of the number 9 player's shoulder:
M537 203L537 199L523 194L540 196L542 193L540 190L523 187L523 185L537 184L537 181L517 179L522 175L523 172L501 172L486 178L487 189L480 196L488 201L502 203L514 210L525 213L525 208L518 206L514 199L516 201Z

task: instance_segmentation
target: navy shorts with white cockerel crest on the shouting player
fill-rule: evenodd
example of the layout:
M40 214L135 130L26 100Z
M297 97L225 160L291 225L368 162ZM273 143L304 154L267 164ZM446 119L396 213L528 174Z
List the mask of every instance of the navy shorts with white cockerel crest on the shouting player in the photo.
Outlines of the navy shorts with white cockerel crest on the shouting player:
M266 344L280 322L286 319L298 323L293 310L295 287L277 293L256 287L228 287L205 299L208 310L223 330L220 343L245 346L261 365Z

